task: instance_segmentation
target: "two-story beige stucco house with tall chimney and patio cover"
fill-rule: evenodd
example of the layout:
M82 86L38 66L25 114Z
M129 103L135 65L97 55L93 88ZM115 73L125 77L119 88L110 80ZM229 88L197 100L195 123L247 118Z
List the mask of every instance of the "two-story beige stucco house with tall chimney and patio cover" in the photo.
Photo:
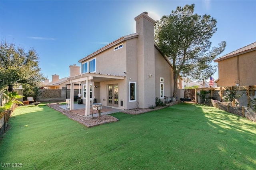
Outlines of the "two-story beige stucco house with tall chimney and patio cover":
M94 98L103 106L133 109L155 105L156 97L164 101L164 96L173 96L173 68L154 43L155 21L147 12L135 21L136 33L80 59L82 74L68 78L71 93L74 83L82 83L86 115ZM70 101L72 110L72 95Z

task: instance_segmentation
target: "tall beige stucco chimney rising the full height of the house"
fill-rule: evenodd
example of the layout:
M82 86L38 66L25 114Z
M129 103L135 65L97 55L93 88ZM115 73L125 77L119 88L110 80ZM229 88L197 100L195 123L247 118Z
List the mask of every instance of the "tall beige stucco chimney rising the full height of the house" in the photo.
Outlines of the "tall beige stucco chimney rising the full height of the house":
M155 43L154 24L155 20L148 16L148 12L134 18L136 21L138 57L138 102L140 108L147 108L155 104Z

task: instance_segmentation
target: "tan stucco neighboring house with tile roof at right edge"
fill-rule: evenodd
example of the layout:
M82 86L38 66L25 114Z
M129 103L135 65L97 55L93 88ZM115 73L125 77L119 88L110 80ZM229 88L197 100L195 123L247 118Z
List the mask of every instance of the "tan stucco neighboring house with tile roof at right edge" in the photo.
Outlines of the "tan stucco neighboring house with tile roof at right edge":
M218 86L256 85L256 42L214 60Z

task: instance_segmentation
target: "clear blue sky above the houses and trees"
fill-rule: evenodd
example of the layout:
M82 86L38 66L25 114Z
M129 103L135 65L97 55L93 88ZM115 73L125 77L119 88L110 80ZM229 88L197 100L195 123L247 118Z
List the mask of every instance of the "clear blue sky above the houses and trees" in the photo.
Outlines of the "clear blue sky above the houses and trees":
M256 41L256 1L250 0L1 0L0 40L26 51L33 47L44 76L69 76L69 65L122 36L136 32L142 12L159 20L177 6L195 4L194 13L217 20L212 45L226 41L220 55ZM218 57L220 57L218 56ZM216 64L216 63L215 63ZM213 75L218 78L218 73Z

